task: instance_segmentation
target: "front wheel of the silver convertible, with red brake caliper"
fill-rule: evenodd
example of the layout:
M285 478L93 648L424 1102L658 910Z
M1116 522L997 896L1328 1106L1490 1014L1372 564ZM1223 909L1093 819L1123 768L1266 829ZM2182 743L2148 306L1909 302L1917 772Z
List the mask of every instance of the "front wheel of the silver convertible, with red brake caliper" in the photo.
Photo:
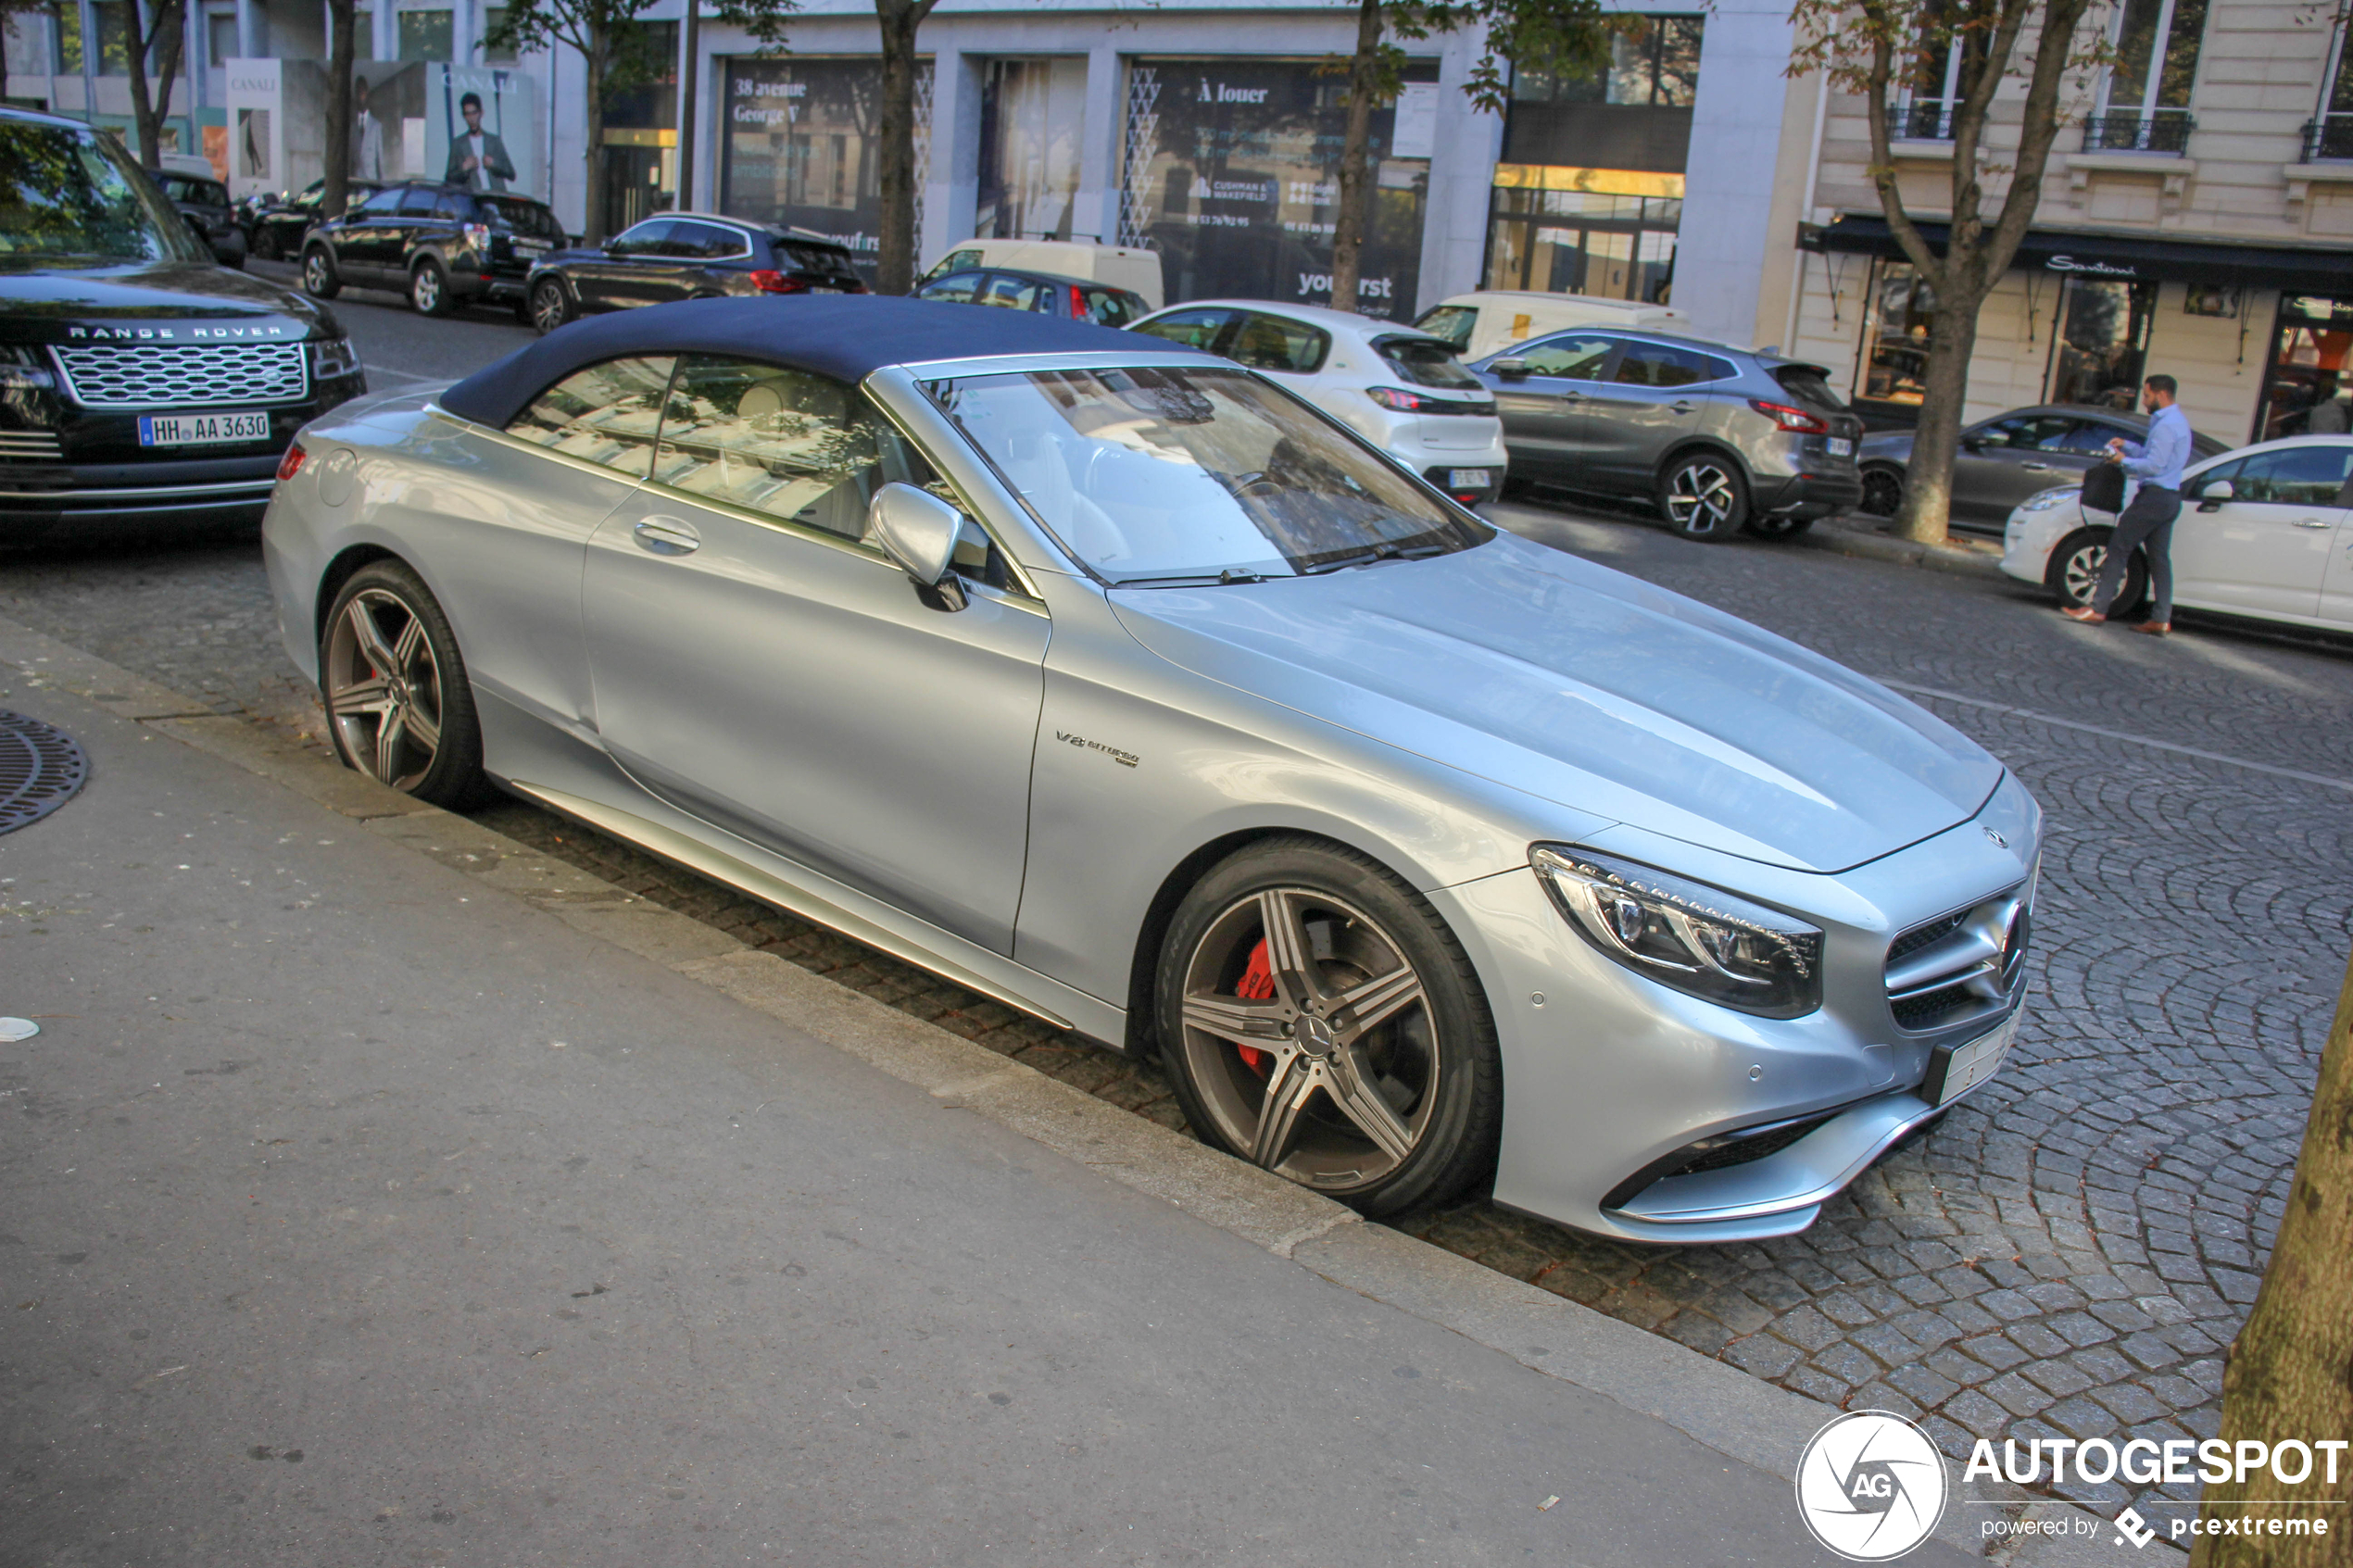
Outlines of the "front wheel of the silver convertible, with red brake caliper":
M1155 1023L1193 1128L1369 1215L1494 1164L1504 1072L1461 945L1395 875L1318 839L1254 844L1169 922Z

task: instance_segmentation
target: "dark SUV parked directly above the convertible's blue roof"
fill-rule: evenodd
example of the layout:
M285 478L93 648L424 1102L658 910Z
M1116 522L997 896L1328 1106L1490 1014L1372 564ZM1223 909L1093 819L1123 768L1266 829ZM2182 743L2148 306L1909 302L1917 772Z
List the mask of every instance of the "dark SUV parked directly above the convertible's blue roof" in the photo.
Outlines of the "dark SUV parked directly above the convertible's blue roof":
M609 242L532 268L529 317L555 331L574 315L729 294L866 294L849 249L800 228L704 212L664 212Z

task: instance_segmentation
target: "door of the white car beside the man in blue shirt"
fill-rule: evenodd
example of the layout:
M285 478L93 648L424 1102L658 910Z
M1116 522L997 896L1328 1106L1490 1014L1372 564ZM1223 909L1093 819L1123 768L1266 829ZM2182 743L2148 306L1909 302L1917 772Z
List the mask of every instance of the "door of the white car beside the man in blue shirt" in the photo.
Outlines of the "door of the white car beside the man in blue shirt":
M2174 599L2247 616L2320 614L2344 534L2353 442L2249 451L2184 484L2174 524ZM2228 482L2231 498L2214 489Z

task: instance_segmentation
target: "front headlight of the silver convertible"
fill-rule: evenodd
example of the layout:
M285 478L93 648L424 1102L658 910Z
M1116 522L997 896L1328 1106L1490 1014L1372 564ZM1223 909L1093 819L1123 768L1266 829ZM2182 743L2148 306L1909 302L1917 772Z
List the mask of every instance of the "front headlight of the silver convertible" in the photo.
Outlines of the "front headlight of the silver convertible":
M1760 1018L1821 1006L1821 931L1802 919L1569 844L1529 863L1577 933L1638 976Z

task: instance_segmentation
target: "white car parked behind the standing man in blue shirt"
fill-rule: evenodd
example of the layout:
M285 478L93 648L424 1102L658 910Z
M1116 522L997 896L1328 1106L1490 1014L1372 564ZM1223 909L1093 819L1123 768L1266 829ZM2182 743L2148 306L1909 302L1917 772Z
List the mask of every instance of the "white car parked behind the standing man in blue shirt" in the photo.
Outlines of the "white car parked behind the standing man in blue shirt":
M2289 625L2353 630L2353 435L2238 447L2181 475L2174 604ZM2127 503L2129 505L2129 503ZM2028 496L2002 531L2002 571L2089 604L2115 520L2082 510L2082 487ZM2134 555L2113 614L2148 597Z

